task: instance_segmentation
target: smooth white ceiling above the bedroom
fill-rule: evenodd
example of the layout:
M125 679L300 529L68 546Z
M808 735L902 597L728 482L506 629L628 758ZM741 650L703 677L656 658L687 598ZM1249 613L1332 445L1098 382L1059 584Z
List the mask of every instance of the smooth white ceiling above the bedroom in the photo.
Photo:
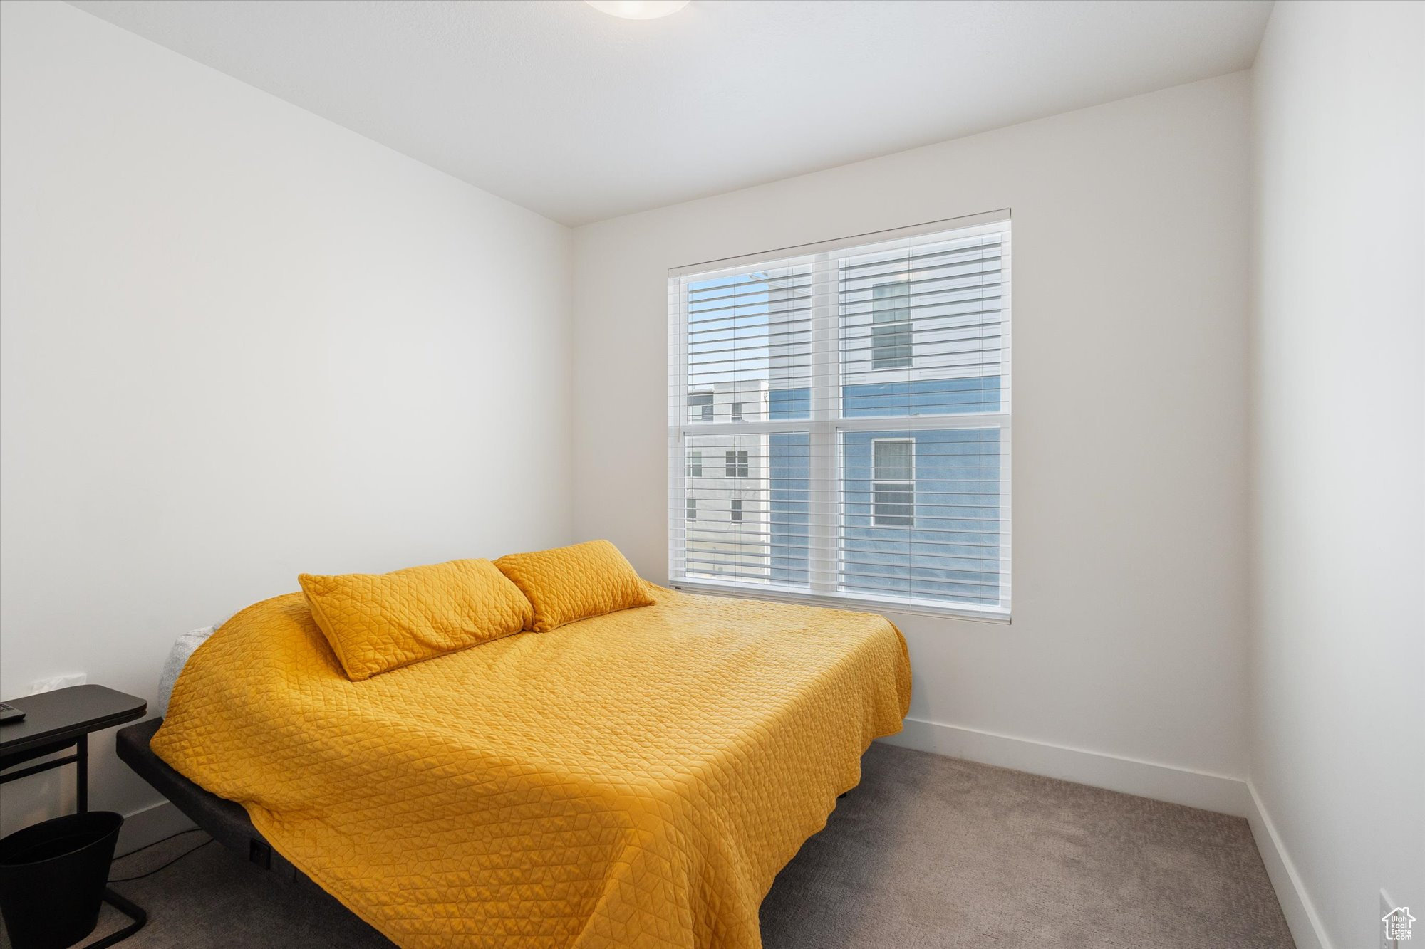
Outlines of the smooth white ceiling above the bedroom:
M1270 0L70 0L564 224L1251 66Z

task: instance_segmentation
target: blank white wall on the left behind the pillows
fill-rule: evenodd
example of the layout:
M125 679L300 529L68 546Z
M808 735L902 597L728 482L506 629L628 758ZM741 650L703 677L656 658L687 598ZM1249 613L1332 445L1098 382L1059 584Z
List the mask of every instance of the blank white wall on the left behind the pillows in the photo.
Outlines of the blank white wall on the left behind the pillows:
M567 541L567 228L66 4L0 6L0 694L151 695L178 633L301 570ZM103 747L94 785L157 801ZM68 788L4 785L4 826Z

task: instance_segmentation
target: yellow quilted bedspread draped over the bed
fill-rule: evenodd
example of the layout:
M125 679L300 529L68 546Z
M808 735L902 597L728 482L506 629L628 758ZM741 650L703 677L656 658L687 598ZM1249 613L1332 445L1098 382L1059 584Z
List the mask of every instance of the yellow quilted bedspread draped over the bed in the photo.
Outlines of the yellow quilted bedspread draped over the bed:
M695 597L352 683L302 594L188 661L152 748L402 946L760 946L758 906L901 730L866 613Z

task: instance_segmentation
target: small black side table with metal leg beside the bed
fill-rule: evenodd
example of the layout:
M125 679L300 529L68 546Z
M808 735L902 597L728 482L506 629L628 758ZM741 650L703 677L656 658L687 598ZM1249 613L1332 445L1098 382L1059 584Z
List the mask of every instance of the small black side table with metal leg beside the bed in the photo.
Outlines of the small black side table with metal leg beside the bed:
M51 693L14 698L9 704L23 711L24 720L0 725L0 784L73 764L74 798L80 814L88 811L90 732L142 718L148 711L148 702L142 698L103 685L57 688ZM74 754L10 771L26 761L68 748L73 748ZM104 888L104 902L134 922L93 943L90 949L113 946L142 929L148 921L148 913L108 886Z

